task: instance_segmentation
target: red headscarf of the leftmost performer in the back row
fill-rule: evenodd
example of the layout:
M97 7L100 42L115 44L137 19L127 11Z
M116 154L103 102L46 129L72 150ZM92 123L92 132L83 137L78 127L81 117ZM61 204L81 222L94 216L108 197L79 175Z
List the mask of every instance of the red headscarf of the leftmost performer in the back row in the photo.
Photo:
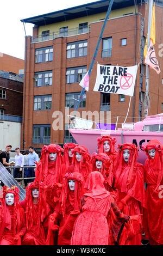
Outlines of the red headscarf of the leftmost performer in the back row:
M41 150L41 161L37 163L37 167L39 167L39 170L36 168L35 176L36 180L41 182L46 180L46 175L48 173L48 166L54 166L55 167L55 175L56 175L56 182L62 181L62 163L63 158L61 155L61 152L64 151L60 145L57 144L50 144L48 146L44 146ZM57 153L57 159L55 162L51 163L48 161L49 153Z

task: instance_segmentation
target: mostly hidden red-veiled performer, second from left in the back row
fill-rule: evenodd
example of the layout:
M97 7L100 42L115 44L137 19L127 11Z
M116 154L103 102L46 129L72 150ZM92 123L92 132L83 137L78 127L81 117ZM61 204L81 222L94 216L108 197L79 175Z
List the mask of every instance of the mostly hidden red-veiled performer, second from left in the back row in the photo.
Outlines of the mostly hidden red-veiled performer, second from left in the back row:
M77 146L77 144L75 143L65 143L64 144L64 162L66 164L66 170L68 170L68 167L70 167L72 165L72 149L74 149Z

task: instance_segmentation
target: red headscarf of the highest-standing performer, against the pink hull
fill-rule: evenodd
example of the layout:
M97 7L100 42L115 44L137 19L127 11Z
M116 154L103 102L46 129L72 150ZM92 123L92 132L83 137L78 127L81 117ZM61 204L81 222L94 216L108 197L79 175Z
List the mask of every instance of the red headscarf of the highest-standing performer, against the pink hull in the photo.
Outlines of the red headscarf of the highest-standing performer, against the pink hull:
M110 150L109 152L104 152L104 145L103 142L104 141L109 141L109 145L110 145ZM97 143L98 143L98 153L105 153L107 155L114 155L117 154L117 151L115 150L115 144L116 144L116 138L115 137L111 137L111 136L102 136L100 138L97 138Z

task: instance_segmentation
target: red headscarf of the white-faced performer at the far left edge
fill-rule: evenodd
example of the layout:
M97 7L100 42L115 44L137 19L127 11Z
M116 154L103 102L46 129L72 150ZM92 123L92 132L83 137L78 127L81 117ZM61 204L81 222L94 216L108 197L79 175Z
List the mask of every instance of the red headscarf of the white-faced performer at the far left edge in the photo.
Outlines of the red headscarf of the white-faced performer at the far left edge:
M2 239L2 235L4 233L4 228L11 229L11 215L9 211L9 207L12 208L13 212L13 227L14 227L14 235L21 229L21 214L20 214L20 198L18 196L18 187L12 186L11 188L4 186L3 187L3 199L1 200L1 216L0 216L0 240ZM14 194L14 205L9 206L5 202L5 196L7 193Z

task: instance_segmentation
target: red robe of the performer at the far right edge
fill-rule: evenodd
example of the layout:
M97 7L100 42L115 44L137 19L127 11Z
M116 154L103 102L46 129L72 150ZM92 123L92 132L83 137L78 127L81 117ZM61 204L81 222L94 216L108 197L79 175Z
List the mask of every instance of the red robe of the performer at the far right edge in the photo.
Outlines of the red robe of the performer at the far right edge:
M149 236L151 245L163 245L163 198L161 197L161 190L155 190L158 182L158 172L152 168L152 164L150 164L152 161L152 159L147 159L145 162L145 181L147 183L145 232ZM163 180L160 185L163 185Z

